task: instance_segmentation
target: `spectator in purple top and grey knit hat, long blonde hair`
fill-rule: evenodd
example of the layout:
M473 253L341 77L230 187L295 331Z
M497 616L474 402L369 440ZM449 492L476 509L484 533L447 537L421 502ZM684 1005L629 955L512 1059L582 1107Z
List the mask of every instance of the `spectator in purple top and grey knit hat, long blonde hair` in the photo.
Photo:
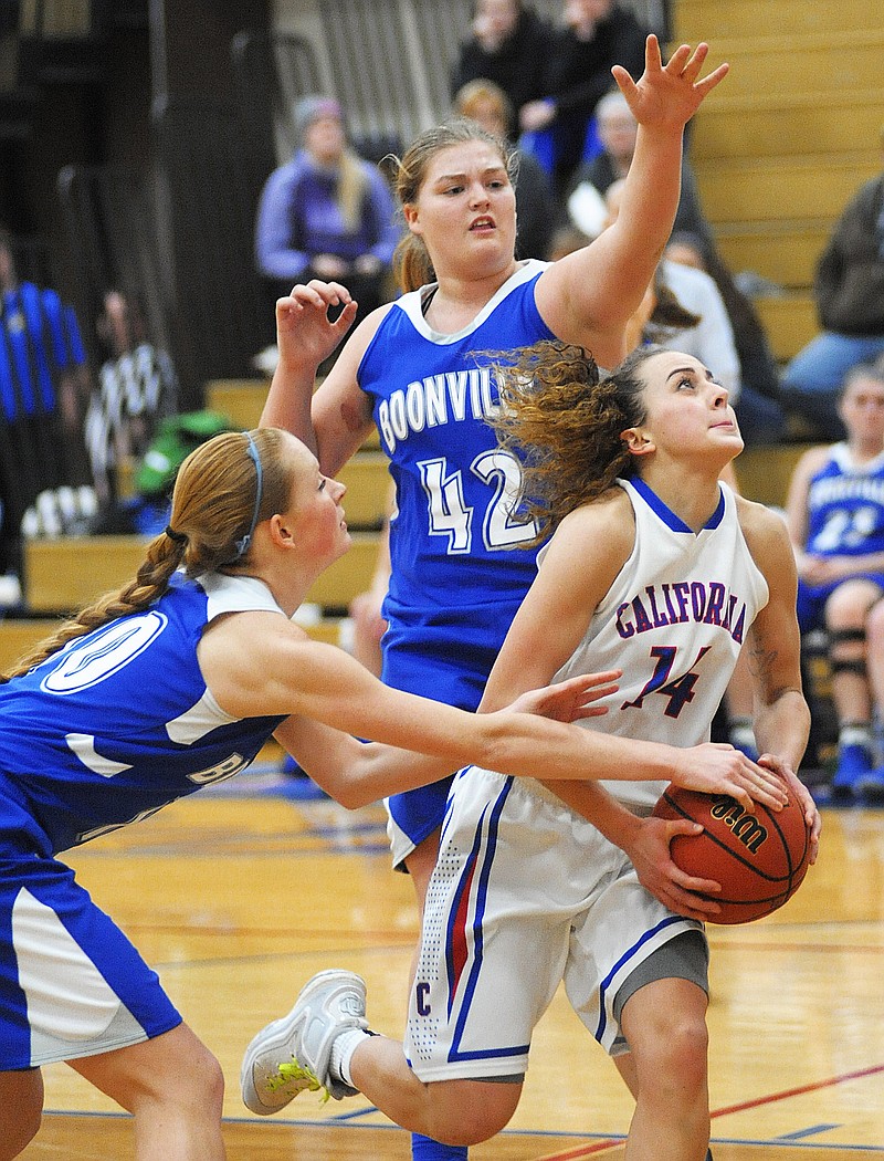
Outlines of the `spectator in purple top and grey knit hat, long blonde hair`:
M258 268L274 297L313 277L343 281L362 317L387 297L399 240L390 187L348 145L338 101L305 96L294 117L302 144L261 194Z

